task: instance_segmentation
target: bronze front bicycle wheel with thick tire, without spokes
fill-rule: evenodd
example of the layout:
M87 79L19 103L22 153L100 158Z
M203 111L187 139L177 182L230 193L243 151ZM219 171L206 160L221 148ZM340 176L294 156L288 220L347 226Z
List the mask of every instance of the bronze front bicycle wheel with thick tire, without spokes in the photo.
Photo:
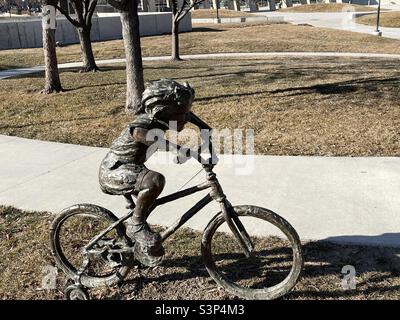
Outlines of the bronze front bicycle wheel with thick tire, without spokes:
M254 246L246 257L222 213L207 225L202 255L210 276L243 299L276 299L296 284L303 268L301 242L294 228L271 210L233 207Z

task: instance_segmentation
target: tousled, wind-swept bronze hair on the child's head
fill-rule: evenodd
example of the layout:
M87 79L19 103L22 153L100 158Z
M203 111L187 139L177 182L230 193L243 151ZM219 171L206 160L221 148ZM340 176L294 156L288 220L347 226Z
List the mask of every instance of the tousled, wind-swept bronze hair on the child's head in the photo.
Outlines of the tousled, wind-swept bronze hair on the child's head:
M143 92L142 103L137 114L147 113L151 118L166 108L175 108L176 112L190 111L194 99L194 89L172 79L160 79L151 82Z

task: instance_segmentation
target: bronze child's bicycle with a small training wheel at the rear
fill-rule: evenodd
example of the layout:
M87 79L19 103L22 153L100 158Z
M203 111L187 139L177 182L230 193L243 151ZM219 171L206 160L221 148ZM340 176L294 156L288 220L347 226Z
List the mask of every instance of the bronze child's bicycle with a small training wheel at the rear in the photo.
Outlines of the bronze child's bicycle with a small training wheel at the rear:
M210 143L210 154L215 154L212 152ZM221 211L209 221L201 240L201 255L211 278L229 293L243 299L276 299L288 293L295 286L303 267L301 242L295 229L269 209L251 205L232 206L213 172L215 165L204 160L200 152L196 159L206 172L206 181L158 198L149 214L165 203L206 189L210 189L210 192L161 232L162 241L173 235L211 201L217 201ZM52 254L58 267L74 281L65 290L67 299L87 300L88 288L114 286L128 274L134 261L135 243L126 236L123 222L132 216L135 203L131 194L124 197L129 212L120 219L97 205L78 204L64 209L53 221L50 231ZM77 218L75 222L73 218ZM288 248L266 250L265 245L270 240L256 234L250 236L244 226L248 218L256 220L253 226L259 226L264 221L275 226L286 240L272 238L271 241L278 241L279 245L284 244ZM71 227L69 231L68 224ZM225 230L218 231L225 225ZM261 248L258 248L259 245ZM225 248L227 252L220 252ZM237 249L239 252L232 252ZM262 254L267 254L267 257L264 258ZM284 260L287 256L289 259ZM266 267L261 265L264 260L268 263ZM247 269L245 263L250 263ZM256 280L249 276L254 271L257 272ZM272 273L272 277L265 277L262 273L267 271ZM282 275L283 272L288 274ZM270 284L276 279L278 283Z

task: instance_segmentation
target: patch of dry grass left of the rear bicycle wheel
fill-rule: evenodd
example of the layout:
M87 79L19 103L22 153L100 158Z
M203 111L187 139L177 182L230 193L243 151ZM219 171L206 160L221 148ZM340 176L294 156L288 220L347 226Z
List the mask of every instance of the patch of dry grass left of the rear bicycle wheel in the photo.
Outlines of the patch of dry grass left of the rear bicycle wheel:
M50 222L48 214L0 206L0 299L62 298L62 292L40 290L43 268L53 264Z

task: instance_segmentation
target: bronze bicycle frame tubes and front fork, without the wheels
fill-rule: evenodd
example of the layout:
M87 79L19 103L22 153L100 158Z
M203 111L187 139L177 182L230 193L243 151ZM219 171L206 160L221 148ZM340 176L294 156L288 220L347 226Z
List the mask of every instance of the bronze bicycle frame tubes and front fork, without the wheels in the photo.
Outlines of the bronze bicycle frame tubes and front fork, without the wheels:
M204 169L207 173L207 181L201 183L197 186L190 187L181 191L177 191L170 195L161 197L155 201L153 206L150 208L148 215L158 206L165 203L175 201L177 199L187 197L194 193L202 190L211 189L210 192L198 201L192 208L186 211L179 219L177 219L170 227L161 233L162 242L164 242L168 237L174 234L182 225L184 225L188 220L190 220L194 215L196 215L201 209L203 209L211 201L215 200L220 204L222 214L229 228L233 232L236 239L239 241L240 247L244 251L244 254L249 257L254 249L254 246L250 240L250 237L245 230L243 224L240 222L232 205L226 199L225 194L222 191L221 185L216 177L216 174L212 171L212 165L205 165ZM128 214L111 224L108 228L104 229L99 235L94 237L86 246L85 250L89 250L98 240L105 236L108 232L114 229L117 225L121 224L125 220L129 219L134 213L134 208L132 208Z

